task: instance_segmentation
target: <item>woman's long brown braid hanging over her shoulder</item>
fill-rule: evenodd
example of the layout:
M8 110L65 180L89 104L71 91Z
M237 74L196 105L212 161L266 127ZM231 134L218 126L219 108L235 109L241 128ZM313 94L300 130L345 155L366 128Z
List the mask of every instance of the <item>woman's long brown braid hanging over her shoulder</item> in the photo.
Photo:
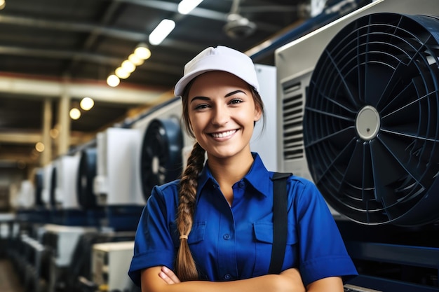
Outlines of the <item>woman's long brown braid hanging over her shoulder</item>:
M191 155L187 160L187 167L184 169L180 179L179 204L177 209L177 228L180 232L180 246L177 253L175 270L180 281L191 281L198 279L198 271L187 238L191 232L195 202L198 174L203 169L205 151L200 144L196 143Z

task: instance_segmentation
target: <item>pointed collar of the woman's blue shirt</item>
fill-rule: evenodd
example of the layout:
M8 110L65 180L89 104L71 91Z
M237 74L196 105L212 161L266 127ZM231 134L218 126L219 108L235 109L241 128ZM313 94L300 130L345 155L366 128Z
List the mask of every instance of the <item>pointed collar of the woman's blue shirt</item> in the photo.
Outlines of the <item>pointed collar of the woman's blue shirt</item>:
M247 174L245 174L243 179L246 182L250 183L250 185L255 188L255 190L257 190L259 193L266 197L266 195L269 193L269 183L267 182L270 181L270 173L268 172L268 170L266 170L264 162L262 162L259 154L252 153L252 156L254 159L252 167L250 167L250 170ZM212 176L212 173L210 172L210 169L206 163L203 167L203 170L201 171L200 176L198 177L198 194L201 193L201 190L209 181L211 183L217 184L217 181Z

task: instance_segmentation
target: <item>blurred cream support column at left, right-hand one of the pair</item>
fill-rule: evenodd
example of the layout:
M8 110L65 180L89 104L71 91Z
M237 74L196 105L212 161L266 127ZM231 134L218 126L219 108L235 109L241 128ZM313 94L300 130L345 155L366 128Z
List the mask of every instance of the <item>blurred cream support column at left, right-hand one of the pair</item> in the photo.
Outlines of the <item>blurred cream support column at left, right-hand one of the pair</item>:
M62 91L60 106L58 109L58 123L60 134L58 136L58 155L63 155L69 151L70 146L70 97L66 90Z

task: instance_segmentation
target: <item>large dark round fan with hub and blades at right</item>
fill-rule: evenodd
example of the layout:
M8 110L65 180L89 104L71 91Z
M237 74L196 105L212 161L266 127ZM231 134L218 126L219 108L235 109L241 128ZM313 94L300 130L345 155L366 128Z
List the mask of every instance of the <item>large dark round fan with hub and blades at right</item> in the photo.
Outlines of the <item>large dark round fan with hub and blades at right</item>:
M439 218L439 19L374 13L344 27L311 76L306 159L334 209L367 225Z

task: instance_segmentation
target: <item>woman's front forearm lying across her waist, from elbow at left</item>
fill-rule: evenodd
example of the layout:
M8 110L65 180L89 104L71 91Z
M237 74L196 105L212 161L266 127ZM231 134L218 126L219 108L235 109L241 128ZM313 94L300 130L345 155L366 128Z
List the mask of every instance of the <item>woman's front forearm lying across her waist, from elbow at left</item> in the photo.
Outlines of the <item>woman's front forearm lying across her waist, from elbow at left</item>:
M291 274L268 274L251 279L237 281L185 281L177 284L166 284L158 278L160 267L151 267L142 272L142 292L302 292L302 279ZM159 280L159 281L157 281Z

